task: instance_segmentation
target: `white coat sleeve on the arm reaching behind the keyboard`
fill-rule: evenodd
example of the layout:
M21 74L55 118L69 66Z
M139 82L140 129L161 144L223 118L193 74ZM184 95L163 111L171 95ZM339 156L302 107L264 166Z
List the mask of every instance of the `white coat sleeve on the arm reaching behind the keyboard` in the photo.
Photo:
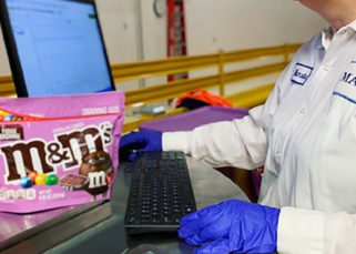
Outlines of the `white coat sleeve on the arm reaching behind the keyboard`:
M163 133L163 150L180 150L216 167L260 166L266 154L265 128L257 121L262 109L255 108L250 115L232 122L206 124L191 132Z

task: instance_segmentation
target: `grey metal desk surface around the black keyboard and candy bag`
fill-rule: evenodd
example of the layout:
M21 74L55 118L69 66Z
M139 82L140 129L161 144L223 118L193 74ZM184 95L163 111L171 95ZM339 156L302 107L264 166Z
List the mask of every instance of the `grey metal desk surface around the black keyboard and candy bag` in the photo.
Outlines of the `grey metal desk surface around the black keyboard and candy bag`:
M131 163L121 163L111 197L112 215L77 234L74 237L45 251L58 253L105 254L179 254L194 253L194 247L180 241L176 234L128 236L124 230L124 213L130 189ZM187 158L191 181L197 207L228 199L248 201L247 196L230 179L211 166ZM75 222L78 223L78 222ZM75 227L75 224L73 225ZM50 237L55 237L51 235Z

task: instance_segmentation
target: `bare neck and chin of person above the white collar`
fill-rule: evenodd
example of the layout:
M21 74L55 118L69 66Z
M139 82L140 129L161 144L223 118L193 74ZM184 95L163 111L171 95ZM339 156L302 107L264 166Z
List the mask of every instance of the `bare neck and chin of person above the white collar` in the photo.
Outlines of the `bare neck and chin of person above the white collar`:
M356 6L333 8L329 11L321 13L322 17L330 24L335 34L340 28L356 20Z

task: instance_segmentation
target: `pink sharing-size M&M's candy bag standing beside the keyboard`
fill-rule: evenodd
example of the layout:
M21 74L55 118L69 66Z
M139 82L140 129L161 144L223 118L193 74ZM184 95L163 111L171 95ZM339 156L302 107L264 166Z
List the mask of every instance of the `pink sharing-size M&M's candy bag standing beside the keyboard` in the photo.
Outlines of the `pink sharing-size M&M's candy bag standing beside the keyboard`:
M110 199L124 94L0 99L0 211Z

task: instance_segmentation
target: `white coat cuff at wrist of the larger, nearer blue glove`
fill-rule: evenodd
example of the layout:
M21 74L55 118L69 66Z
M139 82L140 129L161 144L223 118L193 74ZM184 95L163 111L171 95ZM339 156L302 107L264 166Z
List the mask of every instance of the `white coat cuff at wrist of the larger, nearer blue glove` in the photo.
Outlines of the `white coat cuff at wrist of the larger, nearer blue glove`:
M325 215L318 211L283 207L277 230L278 253L323 254Z

